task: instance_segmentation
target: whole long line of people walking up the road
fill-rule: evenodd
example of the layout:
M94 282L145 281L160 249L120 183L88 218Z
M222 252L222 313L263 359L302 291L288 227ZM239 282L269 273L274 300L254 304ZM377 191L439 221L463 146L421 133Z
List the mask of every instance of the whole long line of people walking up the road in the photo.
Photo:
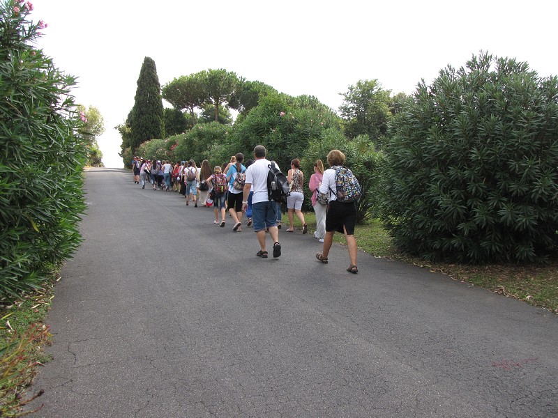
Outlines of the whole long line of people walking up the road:
M356 274L359 270L356 264L357 247L354 238L356 224L356 205L354 202L345 203L337 199L336 169L345 164L345 155L340 150L331 150L327 155L329 169L324 168L322 160L314 163L312 176L308 183L312 192L312 207L316 214L316 231L314 237L323 243L322 251L316 254L321 263L328 263L329 251L333 244L335 232L345 234L349 251L350 265L348 272ZM150 184L153 190L162 189L167 192L174 190L186 198L186 206L190 203L197 208L213 206L216 224L224 227L228 210L234 226L232 231L242 231L243 215L246 215L246 226L252 226L257 234L259 251L257 256L267 258L266 233L273 241L273 257L281 255L279 229L281 229L280 203L269 199L267 178L269 167L274 162L267 160L266 148L258 145L254 148L254 159L244 162L244 155L233 155L229 162L213 169L204 160L201 167L197 167L194 160L188 162L142 160L134 157L134 181L142 185ZM287 216L289 228L287 233L294 232L294 217L302 224L302 233L308 233L308 225L302 212L304 200L304 173L300 169L300 160L291 161L287 172L290 192L287 196ZM319 195L326 195L319 197Z

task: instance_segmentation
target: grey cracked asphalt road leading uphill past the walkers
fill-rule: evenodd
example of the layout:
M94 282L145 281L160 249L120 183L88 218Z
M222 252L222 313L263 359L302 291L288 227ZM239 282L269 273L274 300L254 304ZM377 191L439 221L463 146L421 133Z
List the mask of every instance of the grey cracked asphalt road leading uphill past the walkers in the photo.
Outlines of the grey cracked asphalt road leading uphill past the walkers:
M558 416L555 314L362 252L349 274L313 231L258 258L251 228L129 171L85 187L33 417Z

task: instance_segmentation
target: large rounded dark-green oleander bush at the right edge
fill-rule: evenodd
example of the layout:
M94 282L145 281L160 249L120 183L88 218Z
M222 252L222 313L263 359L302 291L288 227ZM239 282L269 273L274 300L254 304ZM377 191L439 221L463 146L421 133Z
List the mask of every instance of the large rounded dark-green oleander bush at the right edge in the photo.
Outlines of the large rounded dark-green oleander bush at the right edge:
M558 245L558 79L473 57L395 116L382 219L426 259L536 261Z

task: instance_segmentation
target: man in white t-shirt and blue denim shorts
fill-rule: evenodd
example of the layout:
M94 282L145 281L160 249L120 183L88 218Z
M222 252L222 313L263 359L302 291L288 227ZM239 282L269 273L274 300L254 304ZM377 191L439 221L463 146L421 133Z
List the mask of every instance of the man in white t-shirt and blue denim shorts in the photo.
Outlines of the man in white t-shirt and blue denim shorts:
M277 258L281 255L279 230L277 229L277 206L275 202L269 200L267 192L267 174L271 162L266 159L266 148L263 145L255 146L254 157L255 162L246 170L242 206L243 210L248 208L248 196L250 188L252 188L254 192L252 195L252 221L260 247L256 255L267 258L266 229L269 229L269 235L273 239L273 258Z

